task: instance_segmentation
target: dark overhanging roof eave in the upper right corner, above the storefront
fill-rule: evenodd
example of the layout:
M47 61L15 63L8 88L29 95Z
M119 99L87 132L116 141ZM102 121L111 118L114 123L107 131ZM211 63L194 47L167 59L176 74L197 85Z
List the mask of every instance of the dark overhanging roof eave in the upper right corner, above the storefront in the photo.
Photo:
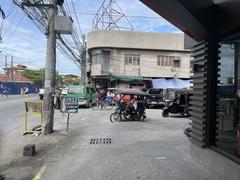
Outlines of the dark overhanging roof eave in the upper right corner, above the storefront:
M239 0L140 0L196 41L240 29Z

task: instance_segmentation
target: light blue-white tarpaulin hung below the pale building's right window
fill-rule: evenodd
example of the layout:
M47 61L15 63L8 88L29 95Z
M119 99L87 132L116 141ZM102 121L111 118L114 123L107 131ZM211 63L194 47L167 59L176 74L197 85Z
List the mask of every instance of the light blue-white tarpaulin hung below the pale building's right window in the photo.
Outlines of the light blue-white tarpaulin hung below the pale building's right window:
M182 80L177 77L174 77L172 79L159 78L152 79L152 85L153 88L159 89L183 89L189 88L191 86L191 80Z

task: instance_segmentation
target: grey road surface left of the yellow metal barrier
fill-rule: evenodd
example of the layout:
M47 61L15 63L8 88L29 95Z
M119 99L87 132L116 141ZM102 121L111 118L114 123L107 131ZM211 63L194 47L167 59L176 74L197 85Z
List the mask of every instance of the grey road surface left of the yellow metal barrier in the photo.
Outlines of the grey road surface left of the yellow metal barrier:
M23 126L24 101L37 98L36 95L0 96L0 136L5 136Z

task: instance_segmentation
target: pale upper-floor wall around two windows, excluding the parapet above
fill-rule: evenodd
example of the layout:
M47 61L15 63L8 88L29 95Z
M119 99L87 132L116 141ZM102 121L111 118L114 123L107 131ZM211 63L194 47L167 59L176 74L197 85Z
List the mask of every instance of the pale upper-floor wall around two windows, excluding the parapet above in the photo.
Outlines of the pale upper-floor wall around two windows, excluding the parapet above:
M125 65L125 54L140 54L140 66L138 65ZM157 66L157 56L180 56L181 66L175 68L176 72L172 72L172 67ZM174 77L177 75L179 78L190 78L190 53L186 52L166 52L166 51L141 51L141 50L112 50L110 56L109 71L114 75L119 76L140 76L143 77ZM94 65L93 65L94 67ZM98 71L99 72L99 71ZM92 73L98 72L92 68ZM98 74L101 75L101 74Z

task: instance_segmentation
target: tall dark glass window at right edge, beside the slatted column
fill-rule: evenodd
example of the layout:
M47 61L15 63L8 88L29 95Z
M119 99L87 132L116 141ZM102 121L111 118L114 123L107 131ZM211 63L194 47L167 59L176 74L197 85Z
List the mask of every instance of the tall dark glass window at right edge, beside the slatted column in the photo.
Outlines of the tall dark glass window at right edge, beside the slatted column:
M215 145L240 158L240 58L237 42L222 44L217 84L216 142ZM234 47L234 48L233 48Z

